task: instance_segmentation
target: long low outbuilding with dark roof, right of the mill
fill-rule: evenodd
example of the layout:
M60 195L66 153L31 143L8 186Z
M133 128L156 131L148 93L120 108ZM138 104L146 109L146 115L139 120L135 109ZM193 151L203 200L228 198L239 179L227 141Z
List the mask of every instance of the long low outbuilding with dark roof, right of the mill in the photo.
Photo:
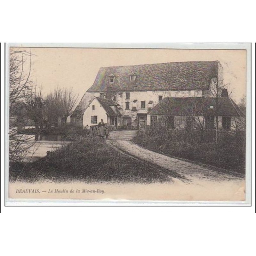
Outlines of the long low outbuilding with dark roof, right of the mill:
M148 111L147 125L157 123L173 129L239 130L245 128L245 114L225 93L221 97L164 98Z

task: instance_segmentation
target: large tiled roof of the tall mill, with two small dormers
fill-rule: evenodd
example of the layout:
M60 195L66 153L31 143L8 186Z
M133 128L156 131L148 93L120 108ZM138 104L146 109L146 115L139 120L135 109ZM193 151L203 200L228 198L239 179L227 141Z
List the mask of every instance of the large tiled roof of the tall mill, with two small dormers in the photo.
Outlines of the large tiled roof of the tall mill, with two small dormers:
M100 68L87 92L145 90L204 90L217 77L219 61L169 62ZM130 75L136 75L130 81ZM115 76L114 83L109 76Z

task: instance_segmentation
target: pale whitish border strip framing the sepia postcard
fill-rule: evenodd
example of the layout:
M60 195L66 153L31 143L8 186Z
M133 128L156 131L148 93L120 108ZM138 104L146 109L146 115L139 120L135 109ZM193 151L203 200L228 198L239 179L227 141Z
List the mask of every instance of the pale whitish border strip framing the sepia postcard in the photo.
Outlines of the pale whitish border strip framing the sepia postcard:
M6 143L7 125L7 108L6 97L4 98L4 114L5 114L5 140L4 140L4 206L252 206L252 43L5 43L4 44L4 96L6 96L6 64L8 62L7 55L9 47L52 47L52 48L116 48L116 49L212 49L212 50L247 50L247 81L246 81L246 95L247 95L247 109L246 113L246 148L249 145L250 155L246 154L246 199L243 202L230 201L135 201L135 200L53 200L53 199L10 199L8 195L8 177L6 152L8 152L8 145ZM192 48L193 46L193 48ZM213 47L214 46L214 47ZM6 51L6 47L8 47ZM250 75L251 74L251 75ZM248 97L249 96L249 97ZM250 99L250 102L249 100ZM250 106L248 108L248 105ZM248 144L249 143L249 144ZM249 162L248 162L249 160ZM249 172L249 175L248 175ZM256 178L255 178L256 181ZM248 190L248 185L250 189ZM250 193L248 193L250 192ZM53 205L54 204L54 205ZM68 205L67 205L68 204ZM83 205L81 205L83 204ZM118 204L118 205L117 205ZM168 204L168 205L167 205ZM256 212L256 208L255 208Z

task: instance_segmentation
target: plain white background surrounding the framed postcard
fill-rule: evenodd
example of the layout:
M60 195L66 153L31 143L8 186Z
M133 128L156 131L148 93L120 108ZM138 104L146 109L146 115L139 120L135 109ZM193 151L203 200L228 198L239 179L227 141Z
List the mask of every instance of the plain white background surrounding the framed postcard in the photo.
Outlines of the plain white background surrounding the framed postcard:
M226 3L228 2L228 3ZM252 1L10 1L3 42L252 42L252 207L4 207L2 255L253 255L255 8Z

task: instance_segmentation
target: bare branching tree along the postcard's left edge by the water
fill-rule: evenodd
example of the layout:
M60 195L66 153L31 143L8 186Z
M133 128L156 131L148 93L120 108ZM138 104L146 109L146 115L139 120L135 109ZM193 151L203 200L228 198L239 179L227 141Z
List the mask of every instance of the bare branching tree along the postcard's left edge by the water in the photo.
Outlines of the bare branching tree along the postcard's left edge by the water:
M9 59L9 160L20 162L33 145L31 138L18 134L26 125L25 102L29 97L31 81L31 51L10 49Z

